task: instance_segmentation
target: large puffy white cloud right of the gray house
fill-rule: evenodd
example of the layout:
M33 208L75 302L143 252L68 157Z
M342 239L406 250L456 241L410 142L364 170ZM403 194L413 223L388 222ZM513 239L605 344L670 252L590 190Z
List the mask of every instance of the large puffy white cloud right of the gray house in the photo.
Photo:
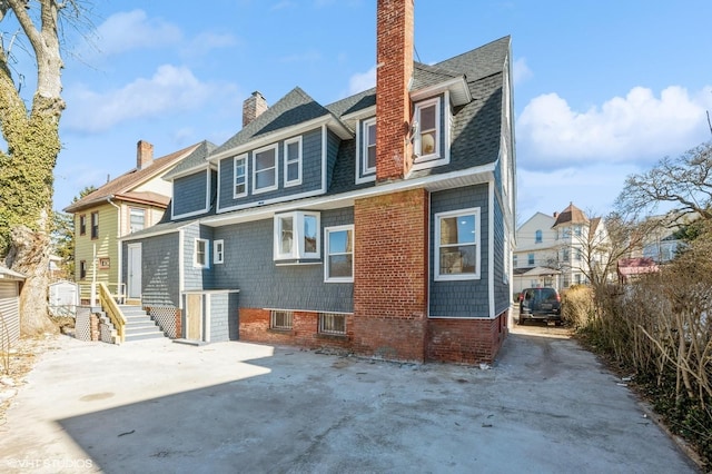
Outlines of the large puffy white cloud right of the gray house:
M573 110L556 93L538 96L517 120L520 164L528 168L592 160L652 164L706 139L709 101L703 96L691 97L686 89L671 86L655 97L652 90L635 87L625 97L585 111Z

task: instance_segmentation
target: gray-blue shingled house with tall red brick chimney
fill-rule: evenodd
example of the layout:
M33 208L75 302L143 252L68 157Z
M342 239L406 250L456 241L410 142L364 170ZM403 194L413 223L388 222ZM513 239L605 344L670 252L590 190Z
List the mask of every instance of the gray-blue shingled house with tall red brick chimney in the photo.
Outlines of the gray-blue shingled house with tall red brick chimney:
M511 40L419 63L413 14L379 2L374 89L324 106L255 92L241 130L166 177L170 213L122 239L122 274L177 337L494 358L512 294Z

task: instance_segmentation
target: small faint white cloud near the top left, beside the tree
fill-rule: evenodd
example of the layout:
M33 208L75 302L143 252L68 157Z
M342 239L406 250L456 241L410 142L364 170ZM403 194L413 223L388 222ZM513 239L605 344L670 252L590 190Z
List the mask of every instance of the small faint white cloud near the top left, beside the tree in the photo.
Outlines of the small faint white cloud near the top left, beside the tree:
M96 31L98 49L105 56L139 48L160 48L180 41L180 29L160 19L149 19L144 10L110 16Z

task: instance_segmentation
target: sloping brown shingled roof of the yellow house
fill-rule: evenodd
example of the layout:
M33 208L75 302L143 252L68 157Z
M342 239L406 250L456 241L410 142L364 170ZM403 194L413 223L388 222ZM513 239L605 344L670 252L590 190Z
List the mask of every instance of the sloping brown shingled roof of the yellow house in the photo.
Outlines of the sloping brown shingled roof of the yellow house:
M86 209L88 207L92 207L97 204L106 201L107 198L122 199L134 203L151 204L166 207L170 201L170 197L150 191L135 191L135 189L141 184L168 170L171 166L176 165L179 160L194 151L199 145L200 144L191 145L170 155L156 158L150 166L144 167L141 169L134 168L130 171L125 172L118 178L112 179L106 185L99 187L99 189L97 189L96 191L90 192L81 199L78 199L77 201L67 206L65 208L65 213L77 213L81 209Z

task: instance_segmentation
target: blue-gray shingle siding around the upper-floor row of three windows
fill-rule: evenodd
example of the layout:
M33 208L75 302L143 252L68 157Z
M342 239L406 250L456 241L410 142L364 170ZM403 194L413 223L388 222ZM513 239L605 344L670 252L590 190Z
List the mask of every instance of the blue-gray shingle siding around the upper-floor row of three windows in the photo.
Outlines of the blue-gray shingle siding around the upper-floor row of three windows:
M291 137L294 138L294 137ZM273 144L274 145L274 144ZM298 195L301 192L315 191L322 188L322 129L317 128L301 135L301 184L297 186L284 186L285 176L285 140L277 142L277 189L267 192L254 194L253 180L253 157L254 151L247 152L247 196L235 199L234 196L234 175L235 158L225 158L220 160L220 195L218 196L220 208L229 208L234 206L247 206L264 200L288 197L289 195ZM260 147L261 149L263 147ZM338 146L336 146L338 149ZM336 154L336 151L334 151ZM241 156L241 155L240 155Z

